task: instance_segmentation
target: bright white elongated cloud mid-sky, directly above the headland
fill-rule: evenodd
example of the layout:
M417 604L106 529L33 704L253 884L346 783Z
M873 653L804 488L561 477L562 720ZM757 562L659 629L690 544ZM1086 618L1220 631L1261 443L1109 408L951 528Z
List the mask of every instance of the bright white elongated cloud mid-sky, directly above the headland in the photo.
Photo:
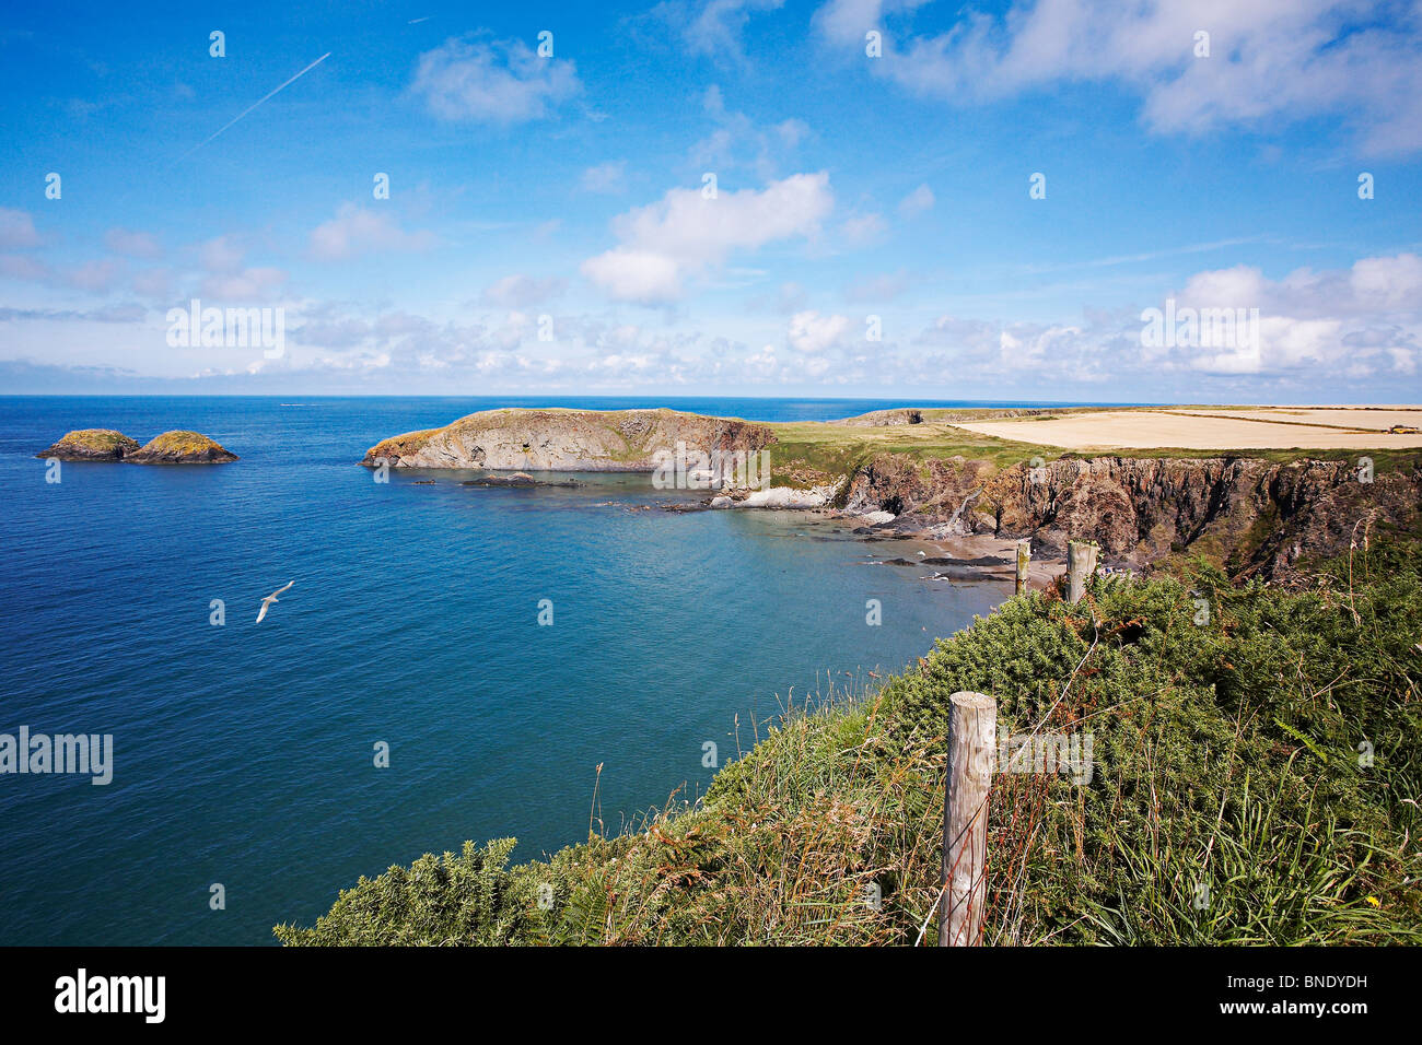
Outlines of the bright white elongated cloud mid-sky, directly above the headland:
M799 173L764 189L671 189L657 203L613 222L620 246L583 263L583 274L610 297L658 304L681 296L687 276L720 264L735 250L813 237L833 208L829 175Z

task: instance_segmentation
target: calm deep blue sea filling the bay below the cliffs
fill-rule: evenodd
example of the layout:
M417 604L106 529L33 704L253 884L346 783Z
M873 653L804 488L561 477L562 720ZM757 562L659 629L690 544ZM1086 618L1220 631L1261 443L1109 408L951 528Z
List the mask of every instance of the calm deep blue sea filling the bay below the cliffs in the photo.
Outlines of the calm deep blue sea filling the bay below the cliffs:
M708 741L734 759L791 701L899 670L1010 594L876 564L914 546L836 520L636 510L668 499L646 475L498 489L356 465L388 435L553 402L757 421L904 405L0 398L0 734L114 738L107 786L0 775L0 944L270 944L425 852L580 842L594 782L619 830L704 793ZM189 428L242 459L46 482L34 454L75 428Z

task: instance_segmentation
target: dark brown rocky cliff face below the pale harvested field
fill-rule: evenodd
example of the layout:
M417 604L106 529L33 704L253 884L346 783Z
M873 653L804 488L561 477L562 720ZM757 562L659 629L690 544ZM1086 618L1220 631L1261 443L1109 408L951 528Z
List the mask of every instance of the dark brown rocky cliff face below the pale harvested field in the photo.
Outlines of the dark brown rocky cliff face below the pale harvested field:
M883 455L850 478L846 496L849 510L892 512L896 529L1032 537L1058 552L1092 537L1133 564L1203 552L1236 573L1278 579L1304 556L1345 552L1359 520L1415 525L1419 502L1422 466L1369 483L1341 461L1119 456L995 471Z

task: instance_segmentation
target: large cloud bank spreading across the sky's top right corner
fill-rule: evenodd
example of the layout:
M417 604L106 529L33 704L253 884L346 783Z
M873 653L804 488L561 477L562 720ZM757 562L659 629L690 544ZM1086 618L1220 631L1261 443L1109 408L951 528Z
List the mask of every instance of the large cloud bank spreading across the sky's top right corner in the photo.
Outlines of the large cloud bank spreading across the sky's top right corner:
M917 6L830 0L815 24L835 44L862 48L867 28ZM1422 148L1422 24L1415 6L1392 10L1385 27L1361 0L1017 0L1001 17L964 9L937 36L886 31L872 68L968 104L1113 80L1143 95L1146 122L1163 132L1345 115L1368 151L1413 152ZM1199 30L1210 33L1209 57L1194 54Z

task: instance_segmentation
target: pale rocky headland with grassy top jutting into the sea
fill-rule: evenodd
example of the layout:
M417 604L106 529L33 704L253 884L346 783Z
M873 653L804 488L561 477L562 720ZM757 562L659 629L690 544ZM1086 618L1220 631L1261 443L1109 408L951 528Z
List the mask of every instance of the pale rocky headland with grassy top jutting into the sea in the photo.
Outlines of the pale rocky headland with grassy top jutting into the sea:
M671 409L489 409L444 428L384 439L364 465L495 471L651 472L657 454L759 451L765 425Z

